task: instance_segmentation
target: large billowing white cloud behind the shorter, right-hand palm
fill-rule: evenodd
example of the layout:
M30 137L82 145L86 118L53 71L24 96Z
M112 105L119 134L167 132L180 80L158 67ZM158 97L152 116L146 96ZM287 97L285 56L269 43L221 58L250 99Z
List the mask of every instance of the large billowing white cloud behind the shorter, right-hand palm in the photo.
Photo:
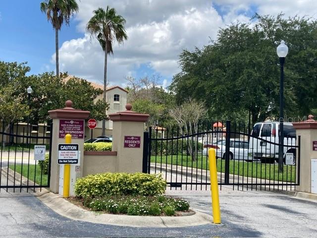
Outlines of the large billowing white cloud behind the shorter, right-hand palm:
M93 2L95 5L82 0L80 4L84 4L85 9L96 9L101 3L98 0ZM205 3L198 4L200 8L194 7L192 1L187 1L192 2L188 6L180 4L183 2L180 0L166 1L165 4L158 4L158 1L142 1L151 6L150 10L145 6L139 9L140 12L146 12L148 18L135 14L132 8L138 10L139 5L134 1L133 5L131 1L123 2L126 4L118 4L116 10L127 18L127 22L130 19L126 28L129 39L123 45L114 44L114 55L108 57L107 77L111 84L124 85L125 76L145 63L149 63L163 76L172 76L179 70L177 60L181 51L193 50L195 46L202 47L208 44L209 37L215 38L218 27L222 25L221 16L214 8L208 6L209 1L201 1ZM123 12L120 12L120 9ZM78 27L81 30L85 27L84 22L91 17L87 11L89 10L77 15L77 20L80 21ZM94 39L90 40L87 34L83 38L62 44L59 50L59 63L61 71L68 71L70 74L90 80L103 81L104 53L99 43Z

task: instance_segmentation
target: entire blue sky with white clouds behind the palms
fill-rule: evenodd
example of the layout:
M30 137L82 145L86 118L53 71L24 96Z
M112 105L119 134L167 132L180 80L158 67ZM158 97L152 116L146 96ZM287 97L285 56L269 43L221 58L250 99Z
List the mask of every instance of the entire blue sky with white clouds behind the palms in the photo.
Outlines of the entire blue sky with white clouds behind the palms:
M54 71L54 31L40 11L43 0L0 1L0 60L27 61L31 73ZM60 71L102 84L104 55L85 31L93 10L106 5L125 17L129 36L108 60L111 85L126 76L158 74L162 86L179 71L183 49L216 39L219 27L248 22L255 12L317 17L317 0L77 0L79 12L59 33Z

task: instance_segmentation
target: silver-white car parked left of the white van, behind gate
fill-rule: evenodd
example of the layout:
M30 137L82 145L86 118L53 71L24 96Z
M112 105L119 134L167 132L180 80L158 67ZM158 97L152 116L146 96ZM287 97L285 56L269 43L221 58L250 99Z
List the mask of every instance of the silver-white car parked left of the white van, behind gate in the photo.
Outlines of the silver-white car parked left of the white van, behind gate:
M208 155L208 150L214 148L216 157L225 159L226 140L218 140L215 144L204 145L203 155ZM230 139L229 159L247 160L249 142L244 140Z

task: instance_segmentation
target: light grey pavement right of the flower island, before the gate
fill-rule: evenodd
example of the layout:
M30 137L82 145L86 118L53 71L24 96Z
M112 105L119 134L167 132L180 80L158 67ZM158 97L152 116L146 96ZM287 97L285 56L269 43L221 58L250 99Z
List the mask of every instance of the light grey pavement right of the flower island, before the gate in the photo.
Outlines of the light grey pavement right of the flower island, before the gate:
M210 191L167 190L211 214ZM223 226L255 232L255 237L316 237L317 201L271 191L232 190L222 186L220 210ZM238 235L237 235L238 236Z

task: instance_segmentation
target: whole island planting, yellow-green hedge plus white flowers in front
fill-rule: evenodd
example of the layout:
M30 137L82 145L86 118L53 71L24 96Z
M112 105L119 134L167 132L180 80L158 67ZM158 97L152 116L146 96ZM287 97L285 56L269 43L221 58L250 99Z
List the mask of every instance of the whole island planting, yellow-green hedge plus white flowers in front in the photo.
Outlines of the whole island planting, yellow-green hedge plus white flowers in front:
M188 212L186 200L163 195L165 187L161 175L105 173L77 179L74 192L76 202L93 211L133 216L177 216Z

